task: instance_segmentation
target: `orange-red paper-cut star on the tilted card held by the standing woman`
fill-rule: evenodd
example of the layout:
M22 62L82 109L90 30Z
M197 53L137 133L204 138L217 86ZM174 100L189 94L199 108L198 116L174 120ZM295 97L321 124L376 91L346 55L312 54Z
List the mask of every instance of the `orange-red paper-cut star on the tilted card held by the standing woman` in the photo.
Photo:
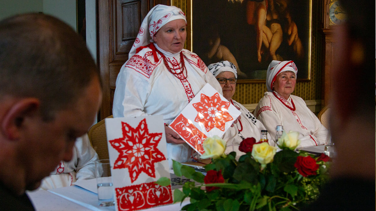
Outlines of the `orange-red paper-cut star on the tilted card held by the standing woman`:
M221 100L218 93L215 93L211 97L201 94L200 102L193 104L193 107L198 112L194 121L202 122L205 126L205 130L208 132L213 128L224 131L226 122L233 120L232 116L227 111L229 106L230 102Z

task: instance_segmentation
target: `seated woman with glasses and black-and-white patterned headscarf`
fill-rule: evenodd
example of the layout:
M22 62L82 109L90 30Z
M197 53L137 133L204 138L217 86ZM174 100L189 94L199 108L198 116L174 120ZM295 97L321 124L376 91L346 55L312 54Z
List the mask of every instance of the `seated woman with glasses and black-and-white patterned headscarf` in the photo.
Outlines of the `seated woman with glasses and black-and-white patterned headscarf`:
M231 99L235 94L237 81L237 69L235 65L229 61L221 61L210 64L208 68L220 83L224 98L231 102L235 107L240 108L241 112L241 118L238 119L236 127L230 127L223 135L223 140L227 141L226 153L228 154L235 151L237 152L237 155L243 155L245 153L238 150L240 142L250 137L254 137L258 141L261 138L261 130L266 129L248 109L239 102ZM270 144L274 144L271 137L268 137Z

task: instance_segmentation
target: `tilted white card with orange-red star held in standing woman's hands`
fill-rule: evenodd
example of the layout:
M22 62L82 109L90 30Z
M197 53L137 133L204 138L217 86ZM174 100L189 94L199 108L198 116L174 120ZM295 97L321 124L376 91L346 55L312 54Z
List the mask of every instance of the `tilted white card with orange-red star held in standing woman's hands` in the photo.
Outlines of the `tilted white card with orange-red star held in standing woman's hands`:
M240 111L210 84L206 84L168 127L196 150L207 137L222 137L240 115Z

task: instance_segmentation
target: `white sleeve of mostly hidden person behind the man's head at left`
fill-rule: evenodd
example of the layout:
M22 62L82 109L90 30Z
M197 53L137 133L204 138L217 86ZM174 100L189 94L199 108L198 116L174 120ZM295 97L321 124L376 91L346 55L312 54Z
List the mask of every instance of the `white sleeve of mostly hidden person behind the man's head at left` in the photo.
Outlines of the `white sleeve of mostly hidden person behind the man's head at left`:
M73 158L69 162L61 161L59 166L42 180L40 189L71 186L79 179L96 178L95 162L97 152L91 147L89 137L85 134L77 138L73 148Z

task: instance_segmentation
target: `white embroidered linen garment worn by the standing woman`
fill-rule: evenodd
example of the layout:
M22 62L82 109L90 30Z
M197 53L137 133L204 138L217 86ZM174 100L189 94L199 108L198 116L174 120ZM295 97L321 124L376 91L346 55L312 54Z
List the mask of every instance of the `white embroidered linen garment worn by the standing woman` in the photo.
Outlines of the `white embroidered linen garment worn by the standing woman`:
M172 71L181 72L180 53L172 54L154 45L165 55ZM217 79L197 54L185 49L182 52L186 70L183 80L168 70L159 53L156 62L149 47L132 56L121 67L116 80L114 118L163 115L164 123L170 124L206 83L222 94ZM167 154L171 167L171 159L187 161L191 148L187 144L167 143Z

